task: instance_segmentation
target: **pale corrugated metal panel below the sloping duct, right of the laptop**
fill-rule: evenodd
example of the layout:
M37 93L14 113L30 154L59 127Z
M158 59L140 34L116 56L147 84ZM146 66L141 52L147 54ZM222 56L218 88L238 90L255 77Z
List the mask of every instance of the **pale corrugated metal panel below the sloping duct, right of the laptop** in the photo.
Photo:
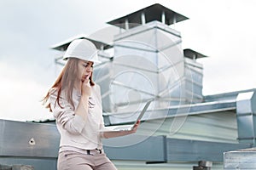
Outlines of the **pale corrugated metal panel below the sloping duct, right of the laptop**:
M173 127L176 123L180 128ZM178 124L180 123L180 124ZM173 133L174 129L177 130ZM214 112L142 122L138 134L166 135L167 138L238 143L236 113Z

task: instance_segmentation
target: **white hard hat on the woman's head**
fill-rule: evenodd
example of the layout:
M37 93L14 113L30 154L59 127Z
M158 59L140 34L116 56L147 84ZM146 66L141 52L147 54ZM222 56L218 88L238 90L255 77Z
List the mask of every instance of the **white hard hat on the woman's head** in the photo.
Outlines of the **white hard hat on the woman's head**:
M67 51L63 55L63 59L78 58L95 63L101 63L98 59L96 46L87 39L73 40L67 47Z

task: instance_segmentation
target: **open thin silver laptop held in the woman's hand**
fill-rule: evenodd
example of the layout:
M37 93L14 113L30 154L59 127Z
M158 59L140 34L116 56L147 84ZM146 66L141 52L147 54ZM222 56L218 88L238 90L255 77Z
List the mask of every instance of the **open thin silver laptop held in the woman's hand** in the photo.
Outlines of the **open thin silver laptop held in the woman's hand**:
M137 121L141 120L143 118L144 113L147 111L148 106L152 100L149 100L146 105L143 107L143 111L139 114L137 117L136 122L134 122L131 125L119 125L119 126L110 126L110 127L104 127L103 129L100 129L99 132L120 132L120 131L131 131L132 128L135 126Z

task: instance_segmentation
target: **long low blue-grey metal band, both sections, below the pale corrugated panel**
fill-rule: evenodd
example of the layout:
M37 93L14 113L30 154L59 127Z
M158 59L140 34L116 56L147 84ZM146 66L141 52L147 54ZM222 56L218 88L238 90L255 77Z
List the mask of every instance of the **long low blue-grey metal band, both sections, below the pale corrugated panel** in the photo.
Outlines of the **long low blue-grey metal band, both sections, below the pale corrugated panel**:
M118 146L125 141L139 141L143 136L133 135L118 139L107 139L104 144ZM223 153L250 147L249 144L229 144L189 139L167 139L165 136L149 137L142 142L122 147L105 147L104 150L113 160L137 161L223 161Z

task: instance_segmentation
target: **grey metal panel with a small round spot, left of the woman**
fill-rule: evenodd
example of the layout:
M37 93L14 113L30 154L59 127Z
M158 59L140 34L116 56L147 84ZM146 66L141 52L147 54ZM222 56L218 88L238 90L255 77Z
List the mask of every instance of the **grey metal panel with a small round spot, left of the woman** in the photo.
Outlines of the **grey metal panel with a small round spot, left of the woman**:
M55 125L0 120L1 156L55 158L60 135Z

